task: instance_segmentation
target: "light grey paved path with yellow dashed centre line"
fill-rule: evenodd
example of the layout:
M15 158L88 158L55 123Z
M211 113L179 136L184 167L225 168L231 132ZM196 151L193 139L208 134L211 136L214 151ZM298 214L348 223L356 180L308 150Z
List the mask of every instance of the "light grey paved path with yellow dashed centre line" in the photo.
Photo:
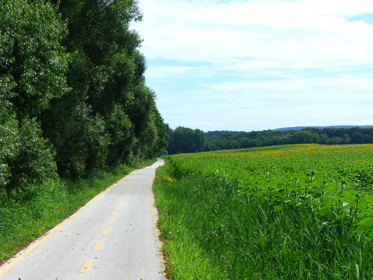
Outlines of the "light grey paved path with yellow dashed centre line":
M0 267L0 280L162 280L150 185L158 159L96 196Z

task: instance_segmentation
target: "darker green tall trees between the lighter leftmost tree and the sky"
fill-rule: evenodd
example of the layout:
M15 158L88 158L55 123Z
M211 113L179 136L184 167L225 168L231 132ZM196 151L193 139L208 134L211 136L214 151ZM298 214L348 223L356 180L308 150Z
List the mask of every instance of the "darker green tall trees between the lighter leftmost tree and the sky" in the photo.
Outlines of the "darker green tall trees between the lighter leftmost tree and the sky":
M60 174L77 177L153 156L155 95L145 86L142 39L129 29L142 18L137 1L61 0L57 8L68 22L62 44L73 54L67 73L72 90L53 99L41 121Z

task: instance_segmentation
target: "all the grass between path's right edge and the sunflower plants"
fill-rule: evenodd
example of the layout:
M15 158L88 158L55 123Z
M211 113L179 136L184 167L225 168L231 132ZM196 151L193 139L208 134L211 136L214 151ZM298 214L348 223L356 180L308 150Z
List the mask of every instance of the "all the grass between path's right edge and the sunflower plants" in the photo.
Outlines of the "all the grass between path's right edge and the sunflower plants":
M175 178L170 167L157 170L153 188L173 279L373 279L372 233L326 227L311 203L275 211L260 197L239 195L229 177ZM188 278L201 263L175 260L195 252L209 269Z

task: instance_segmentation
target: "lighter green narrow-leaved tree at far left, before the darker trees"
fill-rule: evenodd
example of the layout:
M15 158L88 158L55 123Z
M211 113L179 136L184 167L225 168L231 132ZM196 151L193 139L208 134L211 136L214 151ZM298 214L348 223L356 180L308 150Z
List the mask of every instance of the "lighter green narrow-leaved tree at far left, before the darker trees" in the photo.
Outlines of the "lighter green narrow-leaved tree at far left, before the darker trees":
M0 9L0 187L42 183L56 170L35 118L69 92L66 25L42 0L2 0Z

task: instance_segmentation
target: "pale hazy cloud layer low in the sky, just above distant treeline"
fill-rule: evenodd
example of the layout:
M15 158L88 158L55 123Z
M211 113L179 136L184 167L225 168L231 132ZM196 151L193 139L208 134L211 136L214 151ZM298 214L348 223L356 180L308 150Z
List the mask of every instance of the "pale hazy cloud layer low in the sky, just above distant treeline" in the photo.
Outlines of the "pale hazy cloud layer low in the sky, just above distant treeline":
M192 126L205 131L365 125L373 123L372 88L370 77L357 75L231 81L180 91L177 98L162 97L158 102L167 108L163 113L171 127Z

